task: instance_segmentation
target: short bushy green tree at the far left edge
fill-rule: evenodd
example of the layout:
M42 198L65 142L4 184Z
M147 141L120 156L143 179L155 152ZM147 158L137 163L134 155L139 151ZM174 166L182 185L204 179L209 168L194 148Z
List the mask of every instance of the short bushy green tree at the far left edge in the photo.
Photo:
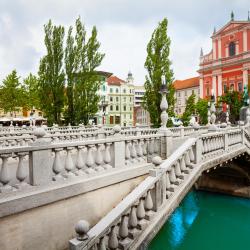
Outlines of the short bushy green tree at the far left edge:
M20 77L17 75L16 70L13 70L3 80L0 87L0 108L4 112L10 112L15 115L21 107L26 106L26 93L25 88L20 83Z

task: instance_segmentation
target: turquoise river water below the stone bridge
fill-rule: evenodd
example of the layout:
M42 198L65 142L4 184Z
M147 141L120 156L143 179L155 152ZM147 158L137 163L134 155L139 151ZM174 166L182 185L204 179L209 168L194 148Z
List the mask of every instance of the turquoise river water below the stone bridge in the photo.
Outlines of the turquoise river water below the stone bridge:
M190 192L149 250L250 250L250 199Z

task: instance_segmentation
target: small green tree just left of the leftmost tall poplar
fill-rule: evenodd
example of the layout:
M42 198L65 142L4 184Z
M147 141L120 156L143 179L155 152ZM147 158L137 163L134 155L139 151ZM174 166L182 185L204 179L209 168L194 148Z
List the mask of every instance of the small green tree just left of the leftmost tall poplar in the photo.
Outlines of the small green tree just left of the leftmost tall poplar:
M23 85L26 92L26 107L27 109L40 108L38 79L35 75L29 74L24 80Z

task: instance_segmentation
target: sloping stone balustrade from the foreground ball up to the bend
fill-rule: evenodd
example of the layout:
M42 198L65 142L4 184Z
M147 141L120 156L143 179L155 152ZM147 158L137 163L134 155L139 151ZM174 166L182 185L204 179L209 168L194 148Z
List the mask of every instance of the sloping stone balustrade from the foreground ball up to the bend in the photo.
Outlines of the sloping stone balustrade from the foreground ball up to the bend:
M185 142L90 230L88 223L80 221L76 226L78 237L70 240L70 249L132 249L159 208L195 167L195 142L194 138Z

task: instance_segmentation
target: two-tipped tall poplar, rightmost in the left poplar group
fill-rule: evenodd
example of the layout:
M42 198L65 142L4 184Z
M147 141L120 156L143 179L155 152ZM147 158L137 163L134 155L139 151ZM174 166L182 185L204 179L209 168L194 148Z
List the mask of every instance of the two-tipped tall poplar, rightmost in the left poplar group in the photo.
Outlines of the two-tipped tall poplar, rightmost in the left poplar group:
M86 41L86 31L80 18L76 20L76 72L75 72L75 119L76 123L87 124L98 111L100 76L96 68L100 66L104 54L99 52L97 29L93 27L91 36Z

